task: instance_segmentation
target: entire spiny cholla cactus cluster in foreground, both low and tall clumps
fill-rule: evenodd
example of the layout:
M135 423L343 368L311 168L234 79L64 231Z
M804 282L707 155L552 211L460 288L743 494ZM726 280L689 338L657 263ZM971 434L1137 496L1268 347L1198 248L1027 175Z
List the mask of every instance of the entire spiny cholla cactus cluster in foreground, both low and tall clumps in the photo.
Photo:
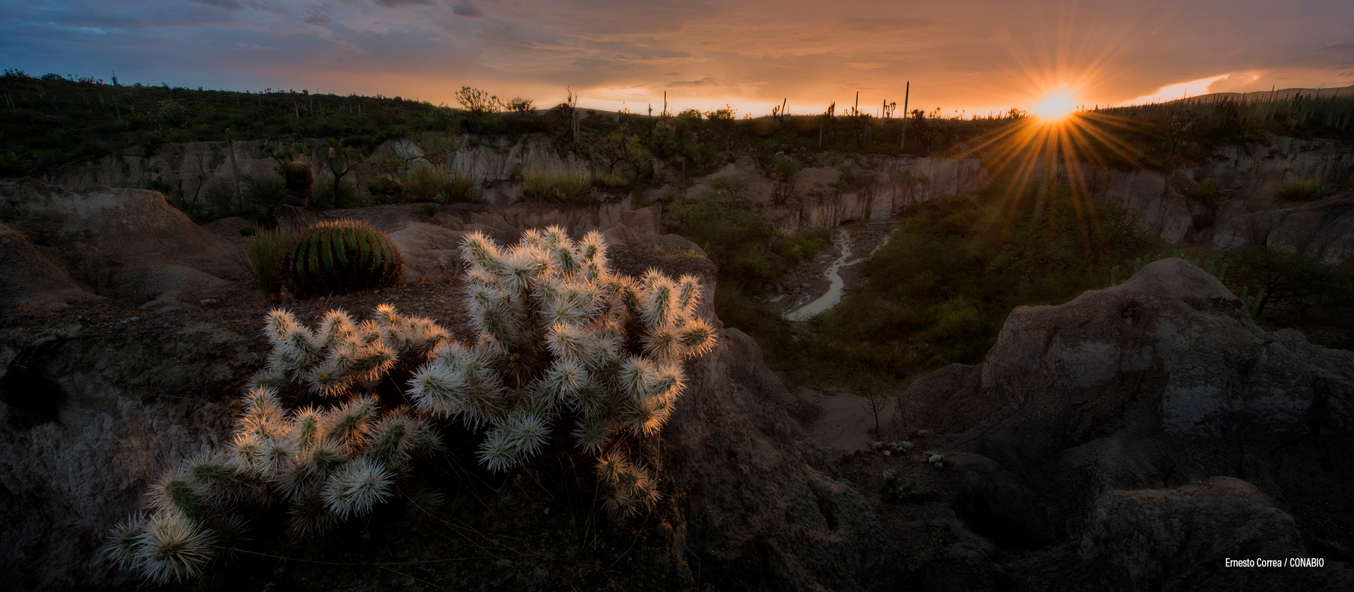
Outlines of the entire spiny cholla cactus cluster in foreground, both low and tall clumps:
M148 514L114 528L108 557L160 583L195 577L242 530L233 508L246 500L286 501L295 534L321 533L390 499L458 419L485 433L478 458L492 472L561 428L596 457L607 508L651 505L655 478L620 445L659 431L685 387L682 360L715 345L696 316L700 282L613 273L600 234L574 242L556 227L510 247L474 232L462 253L479 332L470 343L385 304L360 323L330 311L314 328L269 312L268 366L248 385L230 443L154 483ZM383 400L375 391L398 376L408 388ZM283 404L294 397L317 403Z

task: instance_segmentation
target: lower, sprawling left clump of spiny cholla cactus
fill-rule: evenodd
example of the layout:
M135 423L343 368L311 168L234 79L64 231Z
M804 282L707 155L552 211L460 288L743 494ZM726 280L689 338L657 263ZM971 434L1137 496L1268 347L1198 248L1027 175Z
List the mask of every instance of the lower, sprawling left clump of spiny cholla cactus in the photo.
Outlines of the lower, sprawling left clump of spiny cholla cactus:
M425 361L447 341L444 328L382 305L360 324L329 312L315 328L272 311L264 331L268 368L250 381L230 442L150 485L150 514L110 537L107 554L119 566L157 583L198 576L219 531L238 530L230 512L242 500L287 501L295 533L322 531L389 499L410 458L439 446L427 416L357 391ZM279 397L288 385L333 403L288 410Z

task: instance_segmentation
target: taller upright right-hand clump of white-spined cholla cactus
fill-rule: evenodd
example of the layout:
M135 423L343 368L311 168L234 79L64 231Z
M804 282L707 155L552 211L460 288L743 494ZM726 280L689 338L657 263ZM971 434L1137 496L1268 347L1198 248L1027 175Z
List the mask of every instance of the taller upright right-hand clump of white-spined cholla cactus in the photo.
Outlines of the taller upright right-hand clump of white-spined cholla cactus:
M695 277L612 273L596 231L574 242L558 227L529 230L510 247L471 232L462 253L479 337L439 347L409 393L428 415L483 426L479 460L490 470L533 455L565 418L589 454L621 435L654 435L685 387L681 361L715 343L696 316ZM631 511L655 499L647 476L631 478L645 474L638 466L609 470L607 458L598 474L609 505Z

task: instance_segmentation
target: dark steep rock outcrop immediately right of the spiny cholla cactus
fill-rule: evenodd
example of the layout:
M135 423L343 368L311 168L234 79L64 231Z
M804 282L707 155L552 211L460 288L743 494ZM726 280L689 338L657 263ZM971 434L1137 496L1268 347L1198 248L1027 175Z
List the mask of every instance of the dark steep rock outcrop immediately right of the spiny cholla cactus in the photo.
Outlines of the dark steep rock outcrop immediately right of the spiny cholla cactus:
M816 446L756 342L722 332L689 365L663 434L665 472L685 501L682 537L705 573L735 589L868 585L879 528L869 503L815 466Z

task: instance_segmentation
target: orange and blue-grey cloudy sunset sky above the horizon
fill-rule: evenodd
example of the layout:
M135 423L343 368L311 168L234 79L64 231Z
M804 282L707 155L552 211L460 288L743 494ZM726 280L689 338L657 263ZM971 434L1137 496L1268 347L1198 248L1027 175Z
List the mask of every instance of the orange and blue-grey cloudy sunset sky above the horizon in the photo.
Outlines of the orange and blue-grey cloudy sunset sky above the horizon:
M1030 108L1354 84L1354 1L34 0L0 5L0 66L122 82L454 104L765 115L830 101Z

